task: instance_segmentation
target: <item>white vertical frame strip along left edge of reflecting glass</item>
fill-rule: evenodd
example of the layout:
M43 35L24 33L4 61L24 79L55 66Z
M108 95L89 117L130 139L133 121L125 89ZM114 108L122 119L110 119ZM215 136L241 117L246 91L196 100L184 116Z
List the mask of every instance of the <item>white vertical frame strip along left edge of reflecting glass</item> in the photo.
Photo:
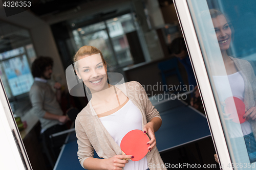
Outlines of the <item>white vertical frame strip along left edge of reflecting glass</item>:
M205 1L206 2L206 1ZM181 26L182 34L185 39L189 58L193 66L194 74L196 75L197 84L199 85L199 92L202 98L206 118L211 132L212 140L215 145L216 154L218 156L219 164L225 165L221 169L232 169L232 165L227 141L224 136L221 120L219 117L214 93L208 78L205 61L203 59L204 51L200 48L199 40L196 34L194 23L191 17L191 11L188 8L188 3L191 0L174 0L174 6ZM212 155L212 159L214 159Z

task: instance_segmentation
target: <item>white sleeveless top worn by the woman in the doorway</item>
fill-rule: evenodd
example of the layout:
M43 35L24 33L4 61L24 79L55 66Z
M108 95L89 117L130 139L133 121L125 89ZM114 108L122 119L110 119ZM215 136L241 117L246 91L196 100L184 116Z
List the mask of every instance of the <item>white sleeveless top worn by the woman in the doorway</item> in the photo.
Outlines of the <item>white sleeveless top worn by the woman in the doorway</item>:
M142 130L142 115L140 110L129 100L121 109L108 116L99 117L103 126L120 146L124 135L131 130ZM124 170L145 170L148 168L146 156L139 161L129 160Z

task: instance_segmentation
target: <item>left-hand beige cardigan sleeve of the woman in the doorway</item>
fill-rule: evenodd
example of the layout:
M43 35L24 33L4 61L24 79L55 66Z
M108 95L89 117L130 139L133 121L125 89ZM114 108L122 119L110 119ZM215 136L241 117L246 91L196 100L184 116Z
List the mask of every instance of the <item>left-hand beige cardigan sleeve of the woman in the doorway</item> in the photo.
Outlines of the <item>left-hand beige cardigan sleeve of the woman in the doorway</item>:
M77 156L81 166L83 167L84 160L94 156L94 149L78 118L76 118L75 121L75 129L78 144Z

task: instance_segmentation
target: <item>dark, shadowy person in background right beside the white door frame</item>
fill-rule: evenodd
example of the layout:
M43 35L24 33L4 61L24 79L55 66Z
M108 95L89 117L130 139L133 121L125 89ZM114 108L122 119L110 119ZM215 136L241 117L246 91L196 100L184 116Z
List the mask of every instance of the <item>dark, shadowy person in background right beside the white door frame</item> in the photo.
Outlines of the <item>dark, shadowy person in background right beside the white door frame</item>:
M183 37L176 38L170 44L170 51L174 54L175 57L181 62L185 67L188 77L188 84L193 85L194 92L191 94L190 105L198 109L200 100L200 94L197 87L196 78L193 72L193 68L188 57L186 44ZM190 87L190 86L189 86Z

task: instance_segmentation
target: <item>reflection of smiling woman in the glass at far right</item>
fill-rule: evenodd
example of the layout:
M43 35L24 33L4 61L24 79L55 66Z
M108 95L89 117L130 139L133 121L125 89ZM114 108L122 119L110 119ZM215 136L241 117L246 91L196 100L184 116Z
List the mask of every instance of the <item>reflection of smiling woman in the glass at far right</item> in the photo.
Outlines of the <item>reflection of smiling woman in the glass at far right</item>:
M227 50L230 46L232 39L232 31L230 23L228 23L226 17L218 10L211 9L210 15L214 24L215 33L218 39L220 51L224 61L224 65L227 72L227 78L231 87L232 96L241 99L246 107L247 112L243 118L246 122L242 124L232 122L232 119L226 118L230 129L228 130L230 141L234 147L239 148L241 142L246 143L246 149L249 155L250 162L256 161L256 142L253 132L256 132L256 78L251 64L242 59L237 59L228 56ZM219 99L222 105L225 107L224 101L229 97L227 91L229 86L223 85L226 80L226 76L215 75L213 76ZM227 115L228 116L228 115ZM234 151L234 155L240 156L239 153ZM239 152L239 151L238 151ZM238 158L236 161L240 161ZM239 160L240 159L240 160Z

